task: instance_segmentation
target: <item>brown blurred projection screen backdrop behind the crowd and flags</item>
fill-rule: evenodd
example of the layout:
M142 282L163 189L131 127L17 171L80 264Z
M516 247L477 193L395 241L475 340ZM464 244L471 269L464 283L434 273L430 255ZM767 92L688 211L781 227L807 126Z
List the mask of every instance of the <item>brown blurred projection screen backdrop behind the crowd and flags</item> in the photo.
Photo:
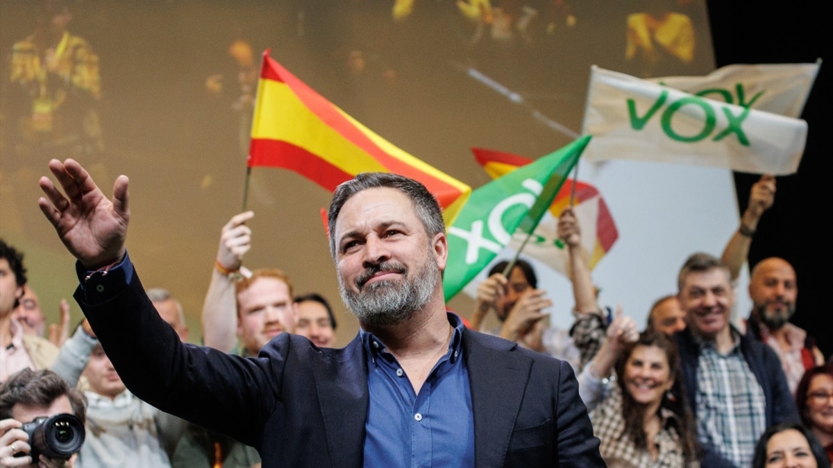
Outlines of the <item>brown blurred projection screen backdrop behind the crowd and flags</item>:
M320 215L330 193L277 169L244 183L265 50L393 146L481 187L471 147L536 159L579 135L591 65L711 72L707 18L706 0L0 0L0 236L57 304L77 278L53 267L65 253L38 177L72 157L109 195L126 174L130 255L193 314L206 286L193 272L247 187L252 225L275 232L252 262L280 261L302 291L337 297ZM270 112L300 128L306 107ZM45 313L57 321L57 307Z

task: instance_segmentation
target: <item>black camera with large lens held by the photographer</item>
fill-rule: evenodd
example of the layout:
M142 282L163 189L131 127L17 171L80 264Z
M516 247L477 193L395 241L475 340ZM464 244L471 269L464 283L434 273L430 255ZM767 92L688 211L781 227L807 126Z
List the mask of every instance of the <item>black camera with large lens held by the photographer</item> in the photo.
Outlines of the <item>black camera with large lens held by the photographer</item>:
M49 458L69 458L81 450L84 436L87 435L81 420L68 413L37 417L24 424L21 429L29 436L29 446L32 446L29 455L35 463L41 455Z

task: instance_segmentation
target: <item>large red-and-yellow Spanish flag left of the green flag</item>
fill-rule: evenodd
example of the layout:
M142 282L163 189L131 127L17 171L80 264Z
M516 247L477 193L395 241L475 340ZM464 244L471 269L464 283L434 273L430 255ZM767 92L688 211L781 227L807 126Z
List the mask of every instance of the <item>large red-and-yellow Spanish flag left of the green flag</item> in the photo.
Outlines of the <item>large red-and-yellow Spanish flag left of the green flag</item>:
M446 225L471 187L394 146L263 52L248 167L282 167L332 192L360 172L395 172L426 186Z

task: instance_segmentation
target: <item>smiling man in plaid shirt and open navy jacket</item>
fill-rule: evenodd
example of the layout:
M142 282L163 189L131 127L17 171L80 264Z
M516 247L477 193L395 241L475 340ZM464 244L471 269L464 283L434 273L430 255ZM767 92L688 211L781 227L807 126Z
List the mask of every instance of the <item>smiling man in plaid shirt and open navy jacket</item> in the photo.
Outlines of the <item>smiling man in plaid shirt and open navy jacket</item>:
M729 270L696 253L678 277L688 328L674 336L688 401L697 418L702 466L750 466L767 427L799 421L775 351L741 335L729 321L735 301Z

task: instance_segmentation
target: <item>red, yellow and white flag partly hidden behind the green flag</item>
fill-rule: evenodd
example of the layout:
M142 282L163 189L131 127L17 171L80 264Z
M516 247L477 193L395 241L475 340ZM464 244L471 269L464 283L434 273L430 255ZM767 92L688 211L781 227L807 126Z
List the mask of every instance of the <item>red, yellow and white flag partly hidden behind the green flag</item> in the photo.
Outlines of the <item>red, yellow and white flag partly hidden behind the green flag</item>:
M506 152L480 148L473 148L472 151L477 162L492 178L501 177L532 162L526 157ZM581 246L584 251L589 252L588 260L591 269L611 250L614 242L619 238L616 222L613 221L611 212L596 187L568 178L552 201L549 212L538 223L523 251L524 255L551 266L552 269L565 276L567 276L569 255L564 243L558 238L558 217L570 204L573 184L576 184L573 212L581 224ZM509 247L517 251L521 248L525 237L519 234L512 236Z

